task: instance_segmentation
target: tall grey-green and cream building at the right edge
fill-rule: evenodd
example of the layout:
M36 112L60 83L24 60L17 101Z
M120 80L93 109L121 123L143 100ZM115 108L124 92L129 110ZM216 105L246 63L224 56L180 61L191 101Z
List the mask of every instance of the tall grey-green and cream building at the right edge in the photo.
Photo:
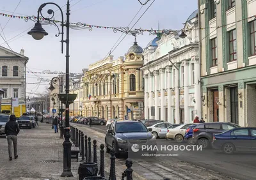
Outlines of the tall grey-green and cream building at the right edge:
M199 5L203 116L256 126L256 1Z

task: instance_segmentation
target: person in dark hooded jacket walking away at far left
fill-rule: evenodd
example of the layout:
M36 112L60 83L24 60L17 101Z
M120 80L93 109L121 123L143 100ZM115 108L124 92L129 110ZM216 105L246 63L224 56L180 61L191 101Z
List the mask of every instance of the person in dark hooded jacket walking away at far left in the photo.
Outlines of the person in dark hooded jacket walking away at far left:
M14 158L18 158L17 154L17 135L19 134L19 124L16 122L15 115L11 115L9 121L5 124L4 133L8 142L9 159L12 161L12 143L14 149Z

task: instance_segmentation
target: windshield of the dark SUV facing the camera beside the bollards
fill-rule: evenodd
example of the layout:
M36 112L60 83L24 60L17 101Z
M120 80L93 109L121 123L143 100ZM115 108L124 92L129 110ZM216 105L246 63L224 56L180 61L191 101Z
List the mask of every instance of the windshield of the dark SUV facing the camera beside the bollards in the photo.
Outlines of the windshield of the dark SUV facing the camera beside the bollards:
M117 123L116 133L147 132L148 129L143 123Z

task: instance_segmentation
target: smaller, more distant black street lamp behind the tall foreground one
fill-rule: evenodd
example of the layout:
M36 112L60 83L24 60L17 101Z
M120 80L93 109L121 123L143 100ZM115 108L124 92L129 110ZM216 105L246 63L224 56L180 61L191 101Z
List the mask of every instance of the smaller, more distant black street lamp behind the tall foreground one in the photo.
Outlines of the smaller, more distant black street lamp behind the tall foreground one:
M58 78L58 77L52 78L51 86L48 89L53 91L55 89L53 84L57 84L58 81L59 81L59 85L60 85L59 91L60 91L60 94L61 94L62 91L63 91L63 79L62 79L62 76L61 76L61 79ZM62 103L60 105L60 99L59 99L58 103L59 103L58 116L61 119L61 121L60 121L60 139L63 139L63 117L62 116L63 116L63 112L64 112L65 109L62 109Z

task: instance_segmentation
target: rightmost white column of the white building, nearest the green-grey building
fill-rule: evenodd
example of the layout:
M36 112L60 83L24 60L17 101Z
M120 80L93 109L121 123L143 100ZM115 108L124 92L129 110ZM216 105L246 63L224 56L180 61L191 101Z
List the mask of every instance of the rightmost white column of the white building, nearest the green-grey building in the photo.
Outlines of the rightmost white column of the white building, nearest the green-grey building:
M200 80L200 64L198 60L195 61L195 115L202 117L201 114L201 84Z

